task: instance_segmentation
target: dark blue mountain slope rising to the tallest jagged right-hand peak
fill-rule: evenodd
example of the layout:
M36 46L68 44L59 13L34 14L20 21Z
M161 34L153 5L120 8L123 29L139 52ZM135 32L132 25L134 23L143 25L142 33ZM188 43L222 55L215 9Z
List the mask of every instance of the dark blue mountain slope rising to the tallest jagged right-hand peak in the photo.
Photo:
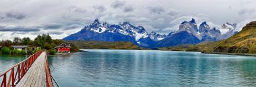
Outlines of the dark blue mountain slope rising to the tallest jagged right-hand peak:
M199 30L195 19L191 21L183 21L179 25L179 30L170 32L166 38L156 44L156 47L179 46L183 44L200 43Z

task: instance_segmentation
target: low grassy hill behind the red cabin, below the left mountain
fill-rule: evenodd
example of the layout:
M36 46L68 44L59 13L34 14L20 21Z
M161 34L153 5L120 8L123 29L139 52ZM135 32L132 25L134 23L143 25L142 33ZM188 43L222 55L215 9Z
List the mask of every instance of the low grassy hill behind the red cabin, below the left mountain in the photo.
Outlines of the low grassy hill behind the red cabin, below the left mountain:
M109 50L142 50L135 44L125 41L103 42L103 41L65 41L73 43L81 49L109 49Z

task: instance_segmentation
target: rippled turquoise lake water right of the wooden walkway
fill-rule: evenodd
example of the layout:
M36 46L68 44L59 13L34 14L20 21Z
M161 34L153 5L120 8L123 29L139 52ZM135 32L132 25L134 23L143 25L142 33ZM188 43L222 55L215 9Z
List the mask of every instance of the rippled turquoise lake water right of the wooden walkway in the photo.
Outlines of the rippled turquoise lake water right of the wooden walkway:
M71 86L256 86L256 58L198 52L87 50L49 56L57 83Z

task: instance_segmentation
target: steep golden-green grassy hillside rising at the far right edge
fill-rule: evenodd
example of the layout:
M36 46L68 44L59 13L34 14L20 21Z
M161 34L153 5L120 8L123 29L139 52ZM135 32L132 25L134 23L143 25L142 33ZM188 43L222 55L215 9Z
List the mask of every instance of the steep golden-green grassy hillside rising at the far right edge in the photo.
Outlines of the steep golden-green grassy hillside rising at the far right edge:
M242 31L222 41L213 52L256 53L256 22L243 27Z

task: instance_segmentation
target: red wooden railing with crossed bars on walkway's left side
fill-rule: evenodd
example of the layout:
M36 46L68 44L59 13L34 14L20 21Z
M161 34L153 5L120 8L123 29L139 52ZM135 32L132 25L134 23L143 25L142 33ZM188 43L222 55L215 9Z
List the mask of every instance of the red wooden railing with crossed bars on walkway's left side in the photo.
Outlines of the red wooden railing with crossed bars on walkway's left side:
M36 52L36 54L29 56L26 60L23 60L22 62L9 68L9 70L3 72L3 74L0 74L0 80L2 78L1 87L14 87L15 83L20 82L22 77L26 74L26 72L28 72L28 69L41 53L42 51ZM7 78L7 76L9 78Z

